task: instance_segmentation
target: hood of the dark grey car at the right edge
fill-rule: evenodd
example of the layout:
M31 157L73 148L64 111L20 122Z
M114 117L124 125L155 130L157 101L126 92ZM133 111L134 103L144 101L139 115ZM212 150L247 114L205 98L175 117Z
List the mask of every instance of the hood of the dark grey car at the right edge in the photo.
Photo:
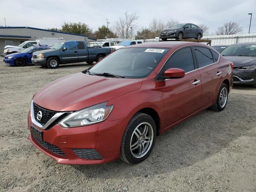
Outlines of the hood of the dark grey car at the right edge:
M256 57L250 56L224 56L233 62L234 67L251 66L256 62Z

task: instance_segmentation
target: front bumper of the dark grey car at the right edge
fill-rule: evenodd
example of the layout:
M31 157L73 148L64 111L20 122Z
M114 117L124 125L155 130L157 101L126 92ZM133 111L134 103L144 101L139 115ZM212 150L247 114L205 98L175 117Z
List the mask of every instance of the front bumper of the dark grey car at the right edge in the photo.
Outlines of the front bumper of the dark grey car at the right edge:
M256 84L256 70L233 70L234 84Z

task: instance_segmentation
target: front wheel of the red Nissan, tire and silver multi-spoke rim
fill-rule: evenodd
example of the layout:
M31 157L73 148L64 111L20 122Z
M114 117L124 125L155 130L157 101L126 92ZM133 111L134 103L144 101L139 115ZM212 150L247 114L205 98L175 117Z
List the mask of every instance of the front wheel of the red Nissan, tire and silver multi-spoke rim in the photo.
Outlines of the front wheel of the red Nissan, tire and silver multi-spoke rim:
M148 114L136 113L124 131L120 159L129 164L138 164L149 156L155 142L156 124L154 119Z

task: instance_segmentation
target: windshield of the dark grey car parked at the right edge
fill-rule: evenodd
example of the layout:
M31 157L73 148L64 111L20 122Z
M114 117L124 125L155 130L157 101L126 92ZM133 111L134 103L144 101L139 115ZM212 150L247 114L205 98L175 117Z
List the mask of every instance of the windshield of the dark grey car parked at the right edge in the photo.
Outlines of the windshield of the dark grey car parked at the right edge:
M256 56L256 44L228 46L221 54L223 56Z

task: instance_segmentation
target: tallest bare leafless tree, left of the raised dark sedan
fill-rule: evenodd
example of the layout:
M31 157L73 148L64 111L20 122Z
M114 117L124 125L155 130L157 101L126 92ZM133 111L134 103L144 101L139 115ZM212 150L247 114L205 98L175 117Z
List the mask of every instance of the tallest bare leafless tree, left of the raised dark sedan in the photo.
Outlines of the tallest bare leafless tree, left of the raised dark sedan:
M114 32L118 37L128 38L132 36L137 28L136 20L138 20L136 13L128 14L124 13L124 18L119 17L114 23ZM132 29L131 29L132 28Z

